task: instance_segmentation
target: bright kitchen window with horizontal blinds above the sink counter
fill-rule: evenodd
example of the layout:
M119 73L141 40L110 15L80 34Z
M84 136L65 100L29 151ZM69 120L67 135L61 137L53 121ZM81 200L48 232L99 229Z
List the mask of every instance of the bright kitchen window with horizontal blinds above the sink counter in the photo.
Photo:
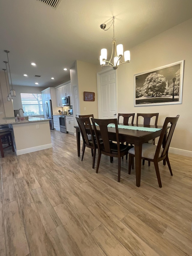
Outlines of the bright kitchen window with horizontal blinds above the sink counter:
M43 115L43 104L41 94L21 93L21 102L24 116Z

